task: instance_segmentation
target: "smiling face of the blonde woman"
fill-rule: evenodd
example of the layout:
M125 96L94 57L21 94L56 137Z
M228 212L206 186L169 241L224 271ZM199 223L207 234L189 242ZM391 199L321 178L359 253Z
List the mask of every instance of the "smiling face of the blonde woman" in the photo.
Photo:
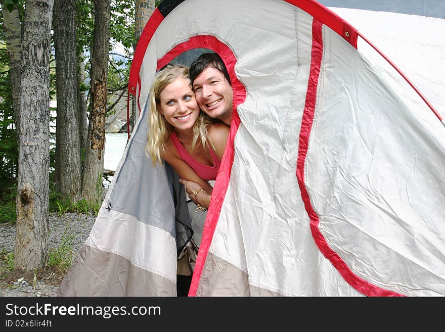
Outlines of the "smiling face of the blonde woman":
M193 127L199 116L199 106L188 79L178 77L159 94L159 112L179 130Z

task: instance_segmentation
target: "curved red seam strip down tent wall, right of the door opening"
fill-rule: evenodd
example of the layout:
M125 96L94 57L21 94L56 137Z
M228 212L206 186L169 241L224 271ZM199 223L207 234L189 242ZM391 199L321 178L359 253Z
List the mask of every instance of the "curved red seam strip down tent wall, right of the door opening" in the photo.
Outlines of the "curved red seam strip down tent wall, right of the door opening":
M310 204L309 194L304 183L304 162L307 155L309 135L314 121L314 113L317 101L317 86L320 76L320 68L323 57L323 23L314 19L312 24L312 51L310 60L309 81L307 84L306 101L304 104L303 118L301 121L300 135L298 138L298 159L296 176L300 187L301 199L304 202L307 215L310 219L310 230L314 241L321 253L329 259L332 265L340 272L341 276L355 290L367 296L402 296L392 291L384 290L354 274L341 257L329 247L324 235L320 231L320 219Z

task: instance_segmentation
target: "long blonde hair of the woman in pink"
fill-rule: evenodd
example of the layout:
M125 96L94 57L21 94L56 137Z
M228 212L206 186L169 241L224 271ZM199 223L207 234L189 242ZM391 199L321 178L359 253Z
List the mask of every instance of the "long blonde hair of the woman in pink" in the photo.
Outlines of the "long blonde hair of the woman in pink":
M158 161L162 164L161 153L164 152L165 142L170 136L170 133L174 131L174 127L165 120L165 117L159 111L159 96L168 84L180 77L190 81L189 69L187 67L180 65L168 66L156 75L150 88L149 130L145 154L151 158L153 165ZM193 125L192 150L195 149L198 139L200 139L203 147L207 146L207 128L212 123L212 119L207 114L204 112L199 113L198 119Z

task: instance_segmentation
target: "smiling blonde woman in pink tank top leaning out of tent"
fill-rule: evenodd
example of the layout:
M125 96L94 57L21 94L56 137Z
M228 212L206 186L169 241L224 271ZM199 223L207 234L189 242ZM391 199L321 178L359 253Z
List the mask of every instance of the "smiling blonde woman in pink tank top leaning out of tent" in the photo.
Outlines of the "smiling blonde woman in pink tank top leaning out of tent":
M150 88L149 134L145 148L153 164L165 160L179 176L196 182L193 201L205 211L226 148L229 126L201 112L189 79L189 69L169 66Z

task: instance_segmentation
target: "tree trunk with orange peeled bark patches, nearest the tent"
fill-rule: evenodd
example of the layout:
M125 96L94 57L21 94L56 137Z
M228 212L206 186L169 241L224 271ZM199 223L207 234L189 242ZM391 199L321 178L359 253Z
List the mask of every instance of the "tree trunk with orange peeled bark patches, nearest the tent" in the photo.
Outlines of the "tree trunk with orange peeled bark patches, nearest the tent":
M95 20L91 55L90 121L82 174L82 197L99 202L104 169L105 113L107 111L110 0L94 0Z

